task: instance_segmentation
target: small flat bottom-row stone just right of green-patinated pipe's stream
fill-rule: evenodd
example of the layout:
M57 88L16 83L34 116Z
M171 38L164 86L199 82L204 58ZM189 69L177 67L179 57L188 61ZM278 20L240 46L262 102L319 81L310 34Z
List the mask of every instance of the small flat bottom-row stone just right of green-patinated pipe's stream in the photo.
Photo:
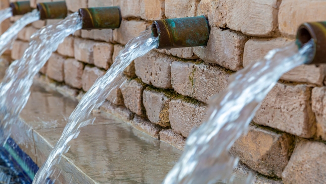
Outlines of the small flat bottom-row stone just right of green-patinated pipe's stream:
M134 113L124 106L115 106L109 102L104 102L100 107L101 112L114 115L124 122L130 122L134 119Z

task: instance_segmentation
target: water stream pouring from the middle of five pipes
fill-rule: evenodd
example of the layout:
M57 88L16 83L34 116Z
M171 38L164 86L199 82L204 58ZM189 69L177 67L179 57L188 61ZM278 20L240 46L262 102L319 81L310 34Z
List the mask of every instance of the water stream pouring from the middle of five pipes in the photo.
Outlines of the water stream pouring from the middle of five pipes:
M64 38L81 28L82 19L78 12L56 24L42 28L31 37L30 45L23 57L11 63L6 70L0 84L1 143L9 137L10 126L18 125L18 116L27 103L33 77Z

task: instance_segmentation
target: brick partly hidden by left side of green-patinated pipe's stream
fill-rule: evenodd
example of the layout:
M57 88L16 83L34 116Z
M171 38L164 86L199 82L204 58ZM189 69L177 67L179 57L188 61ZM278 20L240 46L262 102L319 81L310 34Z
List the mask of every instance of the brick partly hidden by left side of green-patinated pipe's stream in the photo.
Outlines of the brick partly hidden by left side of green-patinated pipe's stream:
M105 71L100 70L97 67L86 65L82 75L83 90L88 91L93 86L96 79L104 74Z

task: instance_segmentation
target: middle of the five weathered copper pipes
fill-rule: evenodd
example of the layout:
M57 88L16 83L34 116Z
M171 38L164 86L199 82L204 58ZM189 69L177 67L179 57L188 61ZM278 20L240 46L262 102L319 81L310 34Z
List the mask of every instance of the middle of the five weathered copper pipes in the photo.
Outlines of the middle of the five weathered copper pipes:
M121 12L118 6L80 8L82 29L115 29L120 27Z

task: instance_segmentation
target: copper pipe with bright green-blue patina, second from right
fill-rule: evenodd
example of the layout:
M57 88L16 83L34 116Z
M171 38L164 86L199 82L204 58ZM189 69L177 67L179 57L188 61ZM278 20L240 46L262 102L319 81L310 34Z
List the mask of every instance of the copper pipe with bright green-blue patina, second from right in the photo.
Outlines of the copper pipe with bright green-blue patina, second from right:
M156 20L152 35L158 37L157 49L206 46L209 25L205 16Z

